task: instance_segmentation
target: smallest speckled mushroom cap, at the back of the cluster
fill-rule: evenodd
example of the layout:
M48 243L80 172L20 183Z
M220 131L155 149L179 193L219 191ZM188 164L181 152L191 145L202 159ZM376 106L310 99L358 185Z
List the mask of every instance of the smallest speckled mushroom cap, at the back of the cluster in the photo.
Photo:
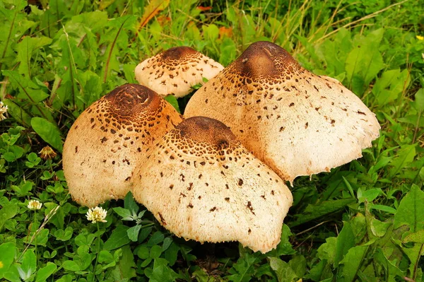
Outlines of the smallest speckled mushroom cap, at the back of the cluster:
M159 95L180 98L192 92L192 86L203 84L224 67L190 47L172 47L136 66L136 80Z

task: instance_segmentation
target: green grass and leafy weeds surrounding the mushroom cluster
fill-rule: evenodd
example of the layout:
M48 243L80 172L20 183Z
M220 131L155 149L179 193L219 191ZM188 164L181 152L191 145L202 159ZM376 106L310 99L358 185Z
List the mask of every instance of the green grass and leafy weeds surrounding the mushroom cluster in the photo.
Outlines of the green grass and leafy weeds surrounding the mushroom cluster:
M419 1L0 2L0 278L5 281L424 281L424 36ZM377 114L363 158L299 177L281 243L253 253L167 232L134 202L91 224L67 192L73 121L143 59L187 45L227 66L284 47ZM176 101L173 101L174 103ZM178 101L181 109L187 98ZM40 158L45 146L57 153ZM29 211L28 201L42 202ZM128 215L130 217L128 218ZM125 219L125 220L124 220Z

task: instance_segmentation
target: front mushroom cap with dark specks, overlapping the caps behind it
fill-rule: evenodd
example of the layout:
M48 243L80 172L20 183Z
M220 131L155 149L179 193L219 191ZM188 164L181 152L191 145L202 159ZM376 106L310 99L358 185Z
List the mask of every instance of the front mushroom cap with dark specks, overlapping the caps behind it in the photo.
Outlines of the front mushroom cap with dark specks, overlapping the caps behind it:
M268 252L280 242L293 202L275 172L207 117L185 119L168 132L134 174L134 198L186 240L237 240Z

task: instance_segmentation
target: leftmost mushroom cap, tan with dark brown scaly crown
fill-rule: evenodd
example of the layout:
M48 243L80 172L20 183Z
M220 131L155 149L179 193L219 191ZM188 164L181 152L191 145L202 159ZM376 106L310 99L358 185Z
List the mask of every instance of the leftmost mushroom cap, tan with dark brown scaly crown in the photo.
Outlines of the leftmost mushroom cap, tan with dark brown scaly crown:
M93 207L129 192L134 167L181 115L153 90L126 84L90 105L73 123L64 144L69 193Z

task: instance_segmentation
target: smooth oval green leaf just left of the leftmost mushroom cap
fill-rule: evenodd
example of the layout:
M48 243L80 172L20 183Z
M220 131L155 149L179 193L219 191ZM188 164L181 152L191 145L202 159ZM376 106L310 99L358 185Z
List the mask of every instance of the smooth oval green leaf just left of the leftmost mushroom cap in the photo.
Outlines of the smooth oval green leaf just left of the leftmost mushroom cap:
M55 124L52 124L42 117L33 117L33 119L31 119L31 126L44 141L49 143L49 145L57 149L60 153L63 151L64 145L61 141L61 131Z

